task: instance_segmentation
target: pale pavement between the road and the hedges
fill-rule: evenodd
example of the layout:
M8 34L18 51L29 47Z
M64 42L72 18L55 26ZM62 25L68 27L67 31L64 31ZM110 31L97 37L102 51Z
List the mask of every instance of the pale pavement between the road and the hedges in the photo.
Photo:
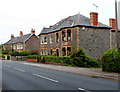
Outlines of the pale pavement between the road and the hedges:
M54 70L84 75L84 76L90 76L93 78L104 78L104 79L115 80L120 82L120 74L102 72L102 69L78 68L78 67L60 66L60 65L52 65L52 64L33 63L33 62L26 62L26 61L21 61L19 63L36 66L36 67L54 69Z

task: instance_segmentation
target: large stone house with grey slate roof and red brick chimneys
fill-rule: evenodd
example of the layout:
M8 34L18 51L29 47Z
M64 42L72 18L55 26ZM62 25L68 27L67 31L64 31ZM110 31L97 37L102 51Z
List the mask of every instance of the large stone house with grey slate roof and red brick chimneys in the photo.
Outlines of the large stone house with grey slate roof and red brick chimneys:
M49 28L44 27L38 35L38 44L33 41L31 44L38 47L40 55L68 56L71 47L80 47L88 56L100 58L104 51L116 45L115 19L111 18L109 22L109 26L100 23L96 12L91 12L90 18L76 14Z

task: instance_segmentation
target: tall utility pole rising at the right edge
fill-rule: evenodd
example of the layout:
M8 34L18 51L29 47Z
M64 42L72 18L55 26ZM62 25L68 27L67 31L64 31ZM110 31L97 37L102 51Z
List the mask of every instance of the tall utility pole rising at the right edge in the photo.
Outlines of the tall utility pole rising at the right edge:
M119 47L119 38L118 38L118 11L117 11L117 0L115 0L115 19L116 19L116 48Z

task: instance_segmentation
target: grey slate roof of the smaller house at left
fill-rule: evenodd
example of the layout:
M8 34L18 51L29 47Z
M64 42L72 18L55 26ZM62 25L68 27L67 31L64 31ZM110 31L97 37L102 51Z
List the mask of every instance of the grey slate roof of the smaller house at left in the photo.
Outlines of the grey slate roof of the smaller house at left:
M11 38L5 44L22 43L22 42L26 41L30 36L31 36L31 34L26 34L26 35L23 35L23 36L14 37L14 38Z

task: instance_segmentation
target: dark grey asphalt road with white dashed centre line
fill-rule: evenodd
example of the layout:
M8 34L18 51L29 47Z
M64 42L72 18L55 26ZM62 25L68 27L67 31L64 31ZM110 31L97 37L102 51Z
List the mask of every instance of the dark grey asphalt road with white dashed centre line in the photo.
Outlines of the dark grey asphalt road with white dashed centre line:
M118 90L118 82L92 78L13 61L2 63L3 90Z

